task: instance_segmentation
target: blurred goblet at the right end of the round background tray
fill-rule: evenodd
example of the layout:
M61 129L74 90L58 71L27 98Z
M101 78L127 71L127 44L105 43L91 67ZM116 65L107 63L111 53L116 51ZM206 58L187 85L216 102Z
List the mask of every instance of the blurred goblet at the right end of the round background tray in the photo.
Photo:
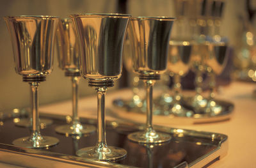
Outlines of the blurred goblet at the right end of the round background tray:
M205 112L214 116L219 114L222 110L221 105L215 102L214 90L216 88L216 75L220 75L223 68L227 65L228 45L225 42L212 42L209 45L209 54L205 57L205 65L207 67L207 73L210 77L209 87L210 94L209 100L205 107Z

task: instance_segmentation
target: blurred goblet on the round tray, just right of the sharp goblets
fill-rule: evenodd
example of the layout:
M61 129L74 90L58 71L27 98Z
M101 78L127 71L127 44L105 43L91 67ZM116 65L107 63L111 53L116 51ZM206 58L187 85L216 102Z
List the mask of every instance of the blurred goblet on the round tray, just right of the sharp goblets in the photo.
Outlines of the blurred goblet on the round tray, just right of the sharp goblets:
M169 57L168 57L168 70L173 73L174 80L174 96L173 107L170 113L175 116L193 116L193 111L186 109L182 106L181 100L183 99L181 93L180 77L186 75L189 71L189 63L191 56L192 45L187 41L170 41Z

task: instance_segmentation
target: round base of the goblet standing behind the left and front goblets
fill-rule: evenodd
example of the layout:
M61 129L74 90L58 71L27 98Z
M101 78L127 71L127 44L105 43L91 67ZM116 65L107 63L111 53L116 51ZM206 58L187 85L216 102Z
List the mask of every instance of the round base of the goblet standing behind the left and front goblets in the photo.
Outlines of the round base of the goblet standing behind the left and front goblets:
M95 132L96 128L92 125L61 125L58 126L55 131L59 134L65 135L81 135L81 134L90 134Z

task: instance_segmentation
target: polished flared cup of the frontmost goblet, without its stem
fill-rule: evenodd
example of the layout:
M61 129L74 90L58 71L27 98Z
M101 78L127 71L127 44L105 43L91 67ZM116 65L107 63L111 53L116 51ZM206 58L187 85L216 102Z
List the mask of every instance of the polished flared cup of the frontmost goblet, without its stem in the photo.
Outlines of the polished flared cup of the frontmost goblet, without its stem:
M88 80L118 79L129 15L70 15L81 44L81 75Z

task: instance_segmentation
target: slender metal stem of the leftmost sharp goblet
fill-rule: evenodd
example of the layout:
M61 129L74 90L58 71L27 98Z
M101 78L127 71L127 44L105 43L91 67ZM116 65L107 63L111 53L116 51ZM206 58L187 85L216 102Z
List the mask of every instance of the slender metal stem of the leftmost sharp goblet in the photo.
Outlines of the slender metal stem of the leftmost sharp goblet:
M40 82L29 82L31 85L31 98L32 98L32 135L31 139L37 139L41 137L39 127L39 115L38 115L38 87Z

